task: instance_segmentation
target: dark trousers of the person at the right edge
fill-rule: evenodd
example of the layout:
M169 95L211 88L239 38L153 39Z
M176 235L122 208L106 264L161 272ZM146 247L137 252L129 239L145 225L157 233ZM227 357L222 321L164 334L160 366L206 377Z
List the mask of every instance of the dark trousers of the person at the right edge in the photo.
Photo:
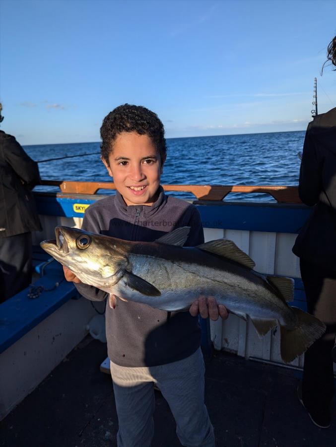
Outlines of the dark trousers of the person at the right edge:
M300 259L308 312L323 321L326 333L306 351L302 398L309 412L326 411L334 396L331 351L336 333L336 272Z

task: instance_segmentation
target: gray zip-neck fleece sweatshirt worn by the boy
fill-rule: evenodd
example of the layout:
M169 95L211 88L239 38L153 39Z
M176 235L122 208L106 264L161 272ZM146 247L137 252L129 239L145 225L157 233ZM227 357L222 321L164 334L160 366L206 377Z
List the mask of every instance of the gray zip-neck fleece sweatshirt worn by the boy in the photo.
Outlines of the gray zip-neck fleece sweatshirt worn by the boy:
M127 206L117 192L92 204L85 212L82 229L124 240L154 241L166 232L190 226L186 246L204 241L201 217L188 202L160 194L152 206ZM101 301L105 292L75 284L85 298ZM200 346L198 317L189 312L168 313L145 304L117 300L106 305L106 337L112 362L125 367L164 365L192 355Z

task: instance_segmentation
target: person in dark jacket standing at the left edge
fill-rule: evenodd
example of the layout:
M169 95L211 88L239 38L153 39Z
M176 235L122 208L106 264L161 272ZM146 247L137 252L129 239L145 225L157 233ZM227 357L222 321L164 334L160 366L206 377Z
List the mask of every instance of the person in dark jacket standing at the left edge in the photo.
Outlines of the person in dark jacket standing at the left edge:
M31 231L41 230L31 190L38 183L37 163L0 131L0 302L31 282Z

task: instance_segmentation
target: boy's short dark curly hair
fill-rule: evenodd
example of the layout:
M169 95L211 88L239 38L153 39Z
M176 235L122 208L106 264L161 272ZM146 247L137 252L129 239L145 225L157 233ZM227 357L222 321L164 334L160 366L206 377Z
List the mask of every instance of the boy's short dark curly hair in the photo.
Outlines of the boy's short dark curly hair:
M103 120L100 128L100 145L102 157L109 162L113 143L122 132L136 132L151 138L161 157L161 164L166 159L167 146L164 127L156 113L142 106L123 104L116 107Z

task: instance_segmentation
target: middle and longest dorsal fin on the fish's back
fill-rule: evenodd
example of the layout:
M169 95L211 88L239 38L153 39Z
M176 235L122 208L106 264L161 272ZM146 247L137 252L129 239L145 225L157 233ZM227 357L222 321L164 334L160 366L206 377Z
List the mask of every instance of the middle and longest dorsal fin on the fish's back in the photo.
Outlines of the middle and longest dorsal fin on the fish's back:
M237 245L228 239L217 239L205 242L205 244L198 245L197 248L208 251L210 253L223 256L224 258L231 259L231 261L238 262L239 264L253 269L256 265L255 262L244 251L237 247Z

